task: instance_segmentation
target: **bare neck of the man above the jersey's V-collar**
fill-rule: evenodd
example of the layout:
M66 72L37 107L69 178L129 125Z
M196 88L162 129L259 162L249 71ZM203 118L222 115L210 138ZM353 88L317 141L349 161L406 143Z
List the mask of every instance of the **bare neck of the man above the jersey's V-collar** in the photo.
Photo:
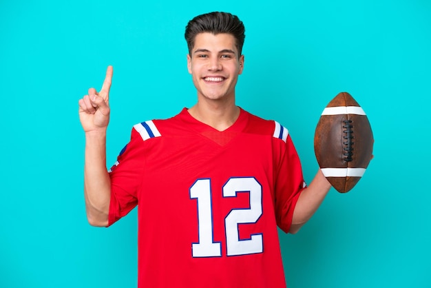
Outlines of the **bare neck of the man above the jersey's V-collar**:
M205 123L215 130L224 131L231 127L240 116L240 107L235 103L203 103L198 101L189 109L194 119Z

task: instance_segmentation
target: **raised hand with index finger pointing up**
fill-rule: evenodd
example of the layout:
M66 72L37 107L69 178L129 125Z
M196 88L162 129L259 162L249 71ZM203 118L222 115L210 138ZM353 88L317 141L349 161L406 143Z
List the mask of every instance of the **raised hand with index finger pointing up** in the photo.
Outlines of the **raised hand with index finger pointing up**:
M90 88L88 94L79 99L79 120L85 132L106 130L109 123L109 89L112 83L112 66L106 70L102 89Z

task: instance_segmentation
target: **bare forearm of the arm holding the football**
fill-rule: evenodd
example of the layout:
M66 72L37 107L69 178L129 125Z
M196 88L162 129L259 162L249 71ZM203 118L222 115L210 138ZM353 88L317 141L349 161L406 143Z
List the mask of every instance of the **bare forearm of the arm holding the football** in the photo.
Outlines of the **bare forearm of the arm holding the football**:
M310 220L311 216L315 214L322 204L330 187L330 183L319 169L313 181L301 192L297 200L295 211L293 212L291 229L289 230L290 233L295 234L302 225Z

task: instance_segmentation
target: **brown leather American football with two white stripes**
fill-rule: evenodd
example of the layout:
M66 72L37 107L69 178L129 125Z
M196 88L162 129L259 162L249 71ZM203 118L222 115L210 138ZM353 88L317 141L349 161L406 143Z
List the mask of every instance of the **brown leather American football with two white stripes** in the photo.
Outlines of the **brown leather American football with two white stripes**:
M364 110L350 94L339 93L322 112L314 137L317 163L338 192L350 191L361 179L373 144Z

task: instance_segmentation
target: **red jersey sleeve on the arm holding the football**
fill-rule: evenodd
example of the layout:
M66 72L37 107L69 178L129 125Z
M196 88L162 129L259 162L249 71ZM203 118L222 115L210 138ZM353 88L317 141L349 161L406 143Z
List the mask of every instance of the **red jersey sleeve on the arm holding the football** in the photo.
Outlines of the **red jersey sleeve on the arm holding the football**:
M284 144L284 143L283 143ZM299 156L291 136L280 154L280 162L275 171L275 217L277 225L284 232L291 228L293 211L302 190L306 187Z

